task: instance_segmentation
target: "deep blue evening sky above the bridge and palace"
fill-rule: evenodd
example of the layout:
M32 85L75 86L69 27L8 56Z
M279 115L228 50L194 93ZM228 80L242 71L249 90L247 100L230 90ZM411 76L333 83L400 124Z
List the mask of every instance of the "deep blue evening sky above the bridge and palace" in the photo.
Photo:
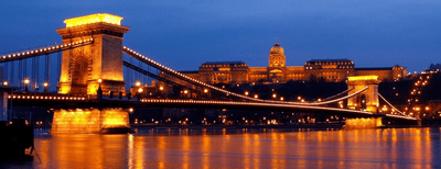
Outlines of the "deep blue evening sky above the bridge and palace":
M413 72L441 63L439 0L3 0L0 53L60 43L65 19L93 13L123 16L123 45L178 70L234 60L265 67L276 40L287 66L347 58Z

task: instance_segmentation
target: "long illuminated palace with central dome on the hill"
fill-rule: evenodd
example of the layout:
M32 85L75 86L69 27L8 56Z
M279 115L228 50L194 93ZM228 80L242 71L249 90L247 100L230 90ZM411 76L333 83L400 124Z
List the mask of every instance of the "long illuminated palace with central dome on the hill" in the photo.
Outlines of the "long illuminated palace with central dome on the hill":
M391 81L406 75L406 68L398 65L356 68L354 61L349 59L311 59L304 66L287 66L286 63L284 50L276 42L268 56L268 67L249 67L243 61L208 61L202 64L196 71L181 72L211 84L278 83L289 80L338 82L346 80L348 76L365 75L376 75L378 80Z

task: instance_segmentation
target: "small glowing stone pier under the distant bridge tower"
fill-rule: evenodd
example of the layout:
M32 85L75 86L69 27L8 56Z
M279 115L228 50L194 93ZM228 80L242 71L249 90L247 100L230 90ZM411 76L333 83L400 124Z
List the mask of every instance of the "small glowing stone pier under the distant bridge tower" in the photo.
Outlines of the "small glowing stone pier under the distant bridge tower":
M367 128L378 128L383 126L381 117L356 117L346 119L345 129L367 129Z

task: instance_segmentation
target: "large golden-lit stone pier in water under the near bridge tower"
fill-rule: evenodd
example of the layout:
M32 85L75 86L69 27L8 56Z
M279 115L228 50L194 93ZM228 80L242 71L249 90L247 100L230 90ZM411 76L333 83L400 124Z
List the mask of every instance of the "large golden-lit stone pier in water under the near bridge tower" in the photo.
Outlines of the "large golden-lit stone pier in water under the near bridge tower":
M123 109L54 110L51 133L129 133L129 112Z

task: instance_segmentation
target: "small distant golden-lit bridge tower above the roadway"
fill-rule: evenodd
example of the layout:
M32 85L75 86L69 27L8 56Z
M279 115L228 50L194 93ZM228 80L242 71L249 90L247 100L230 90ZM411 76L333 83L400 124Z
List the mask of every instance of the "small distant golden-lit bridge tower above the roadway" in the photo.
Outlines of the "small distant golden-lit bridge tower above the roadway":
M348 94L353 94L365 87L369 87L356 97L347 100L347 108L354 110L366 110L373 113L378 112L378 76L353 76L347 77L347 88L353 89Z

